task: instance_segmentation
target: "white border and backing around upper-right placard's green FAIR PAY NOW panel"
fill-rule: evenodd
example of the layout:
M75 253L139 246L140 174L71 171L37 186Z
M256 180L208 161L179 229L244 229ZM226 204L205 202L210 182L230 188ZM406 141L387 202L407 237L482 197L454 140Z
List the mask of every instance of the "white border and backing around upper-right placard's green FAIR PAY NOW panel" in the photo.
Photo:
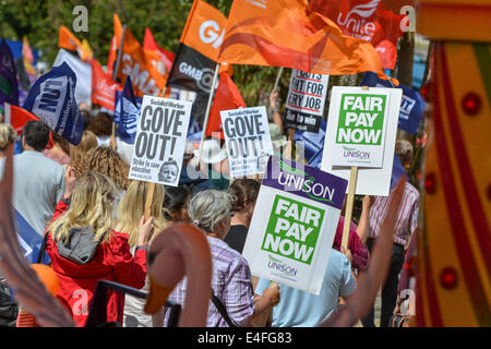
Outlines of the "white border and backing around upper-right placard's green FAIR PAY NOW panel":
M380 168L368 168L364 166L356 165L357 163L348 163L348 166L336 166L335 160L338 153L334 152L335 140L337 136L337 120L331 122L331 110L339 110L342 99L336 97L337 94L343 93L347 95L359 95L359 94L374 94L374 95L386 95L386 109L387 117L385 122L385 140L383 151L380 151L382 154L382 164ZM336 99L331 101L330 106L330 119L327 120L327 129L326 136L324 142L324 152L322 157L321 169L328 173L333 173L335 176L342 177L344 179L349 180L350 167L359 166L358 169L358 179L357 186L355 193L358 195L380 195L387 196L390 193L391 186L391 176L392 176L392 166L394 160L394 149L395 149L395 141L396 141L396 132L397 132L397 123L399 117L399 108L400 108L400 99L403 96L403 92L400 88L375 88L370 87L370 89L363 91L361 87L333 87L333 95ZM337 100L337 103L336 103ZM334 117L334 119L336 119ZM351 144L349 145L340 145L347 146L350 148L355 148ZM344 149L343 149L344 151ZM356 153L356 151L355 151ZM336 155L337 154L337 155ZM339 163L337 163L339 164Z

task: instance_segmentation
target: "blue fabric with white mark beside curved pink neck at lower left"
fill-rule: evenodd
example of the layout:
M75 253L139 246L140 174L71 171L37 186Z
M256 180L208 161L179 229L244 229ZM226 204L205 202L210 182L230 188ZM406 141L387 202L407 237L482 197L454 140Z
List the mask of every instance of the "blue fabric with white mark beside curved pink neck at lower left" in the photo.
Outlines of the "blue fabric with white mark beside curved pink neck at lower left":
M22 215L15 208L14 210L19 243L24 252L24 256L26 257L28 263L37 263L37 256L43 244L43 237L39 236L36 230L33 229L33 227L31 227L27 220L25 220L24 217L22 217ZM40 263L49 264L51 260L49 258L48 253L45 253L44 258L40 261Z

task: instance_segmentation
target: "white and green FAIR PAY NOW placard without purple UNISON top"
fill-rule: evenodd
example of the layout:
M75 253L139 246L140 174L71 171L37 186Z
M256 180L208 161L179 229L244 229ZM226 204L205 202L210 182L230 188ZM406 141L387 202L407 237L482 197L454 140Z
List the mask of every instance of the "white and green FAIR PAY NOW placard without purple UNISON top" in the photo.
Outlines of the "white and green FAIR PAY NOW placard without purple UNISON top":
M362 163L367 160L367 152L369 152L370 159L374 158L374 154L371 151L368 151L366 145L358 145L356 143L349 143L349 144L337 144L335 145L336 137L338 136L338 119L335 115L335 111L339 111L339 108L342 106L342 96L343 95L370 95L370 96L386 96L385 100L385 109L386 109L386 120L384 120L385 130L382 130L380 134L384 133L384 140L383 140L383 149L380 148L381 145L375 145L379 147L379 158L382 158L382 164L380 167L376 168L370 168L367 167L368 163ZM334 98L334 99L333 99ZM390 192L390 185L391 185L391 176L392 176L392 166L394 160L394 148L395 148L395 141L396 141L396 132L397 132L397 121L399 117L399 107L400 107L400 99L402 99L402 91L399 88L370 88L369 91L363 91L361 87L339 87L335 86L333 87L332 97L331 97L331 105L330 105L330 118L327 119L327 130L326 130L326 136L324 141L324 152L322 157L322 164L321 169L323 171L326 171L328 173L342 177L346 180L349 180L349 173L351 166L359 167L358 169L358 179L357 179L357 185L355 193L358 195L381 195L386 196ZM367 103L367 98L361 99L362 101ZM355 101L354 101L355 103ZM372 103L371 100L369 103ZM367 106L367 105L364 105ZM351 107L352 108L352 107ZM376 105L373 106L373 108L376 108ZM360 117L362 111L356 112L357 118L363 118ZM379 116L380 117L380 116ZM354 118L354 117L351 117ZM370 118L373 118L373 115L370 116ZM366 139L366 134L370 137L370 141L375 141L373 137L376 135L378 128L375 128L375 119L373 119L373 124L369 123L368 117L366 116L366 122L367 128L363 128L361 124L358 127L360 130L367 130L361 131L363 134L363 139ZM354 121L352 125L356 124L357 121ZM360 119L359 122L362 122ZM369 125L372 125L371 128ZM372 131L375 130L375 131ZM355 137L352 135L354 131L349 131L351 134L348 134L348 131L342 131L342 141L345 140L360 140L360 131L355 134ZM367 132L367 133L364 133ZM372 133L370 133L372 132ZM381 141L382 139L376 139L376 141ZM373 146L373 144L370 144ZM369 146L370 146L369 145ZM335 146L337 146L337 149L335 149ZM345 149L350 148L350 149ZM340 148L340 149L339 149ZM352 161L349 163L342 163L339 161L340 153L339 152L347 152L346 159L351 159ZM357 154L358 153L358 154ZM357 157L359 157L357 159ZM336 163L337 160L337 163ZM356 161L355 161L356 160ZM345 164L346 166L337 166L335 164Z

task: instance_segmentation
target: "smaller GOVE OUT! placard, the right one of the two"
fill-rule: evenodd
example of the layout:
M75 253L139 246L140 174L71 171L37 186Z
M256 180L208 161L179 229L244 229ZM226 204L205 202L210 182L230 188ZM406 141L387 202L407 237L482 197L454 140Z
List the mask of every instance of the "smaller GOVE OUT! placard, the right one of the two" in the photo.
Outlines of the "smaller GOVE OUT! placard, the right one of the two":
M220 111L230 176L262 174L273 155L265 107Z

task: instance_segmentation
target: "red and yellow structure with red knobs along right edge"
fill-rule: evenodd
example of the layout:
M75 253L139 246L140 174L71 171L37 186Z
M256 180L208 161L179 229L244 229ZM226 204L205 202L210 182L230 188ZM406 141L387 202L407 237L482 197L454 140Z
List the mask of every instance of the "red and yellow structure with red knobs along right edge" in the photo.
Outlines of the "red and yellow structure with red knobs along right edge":
M491 326L491 2L424 0L417 32L434 45L418 326Z

